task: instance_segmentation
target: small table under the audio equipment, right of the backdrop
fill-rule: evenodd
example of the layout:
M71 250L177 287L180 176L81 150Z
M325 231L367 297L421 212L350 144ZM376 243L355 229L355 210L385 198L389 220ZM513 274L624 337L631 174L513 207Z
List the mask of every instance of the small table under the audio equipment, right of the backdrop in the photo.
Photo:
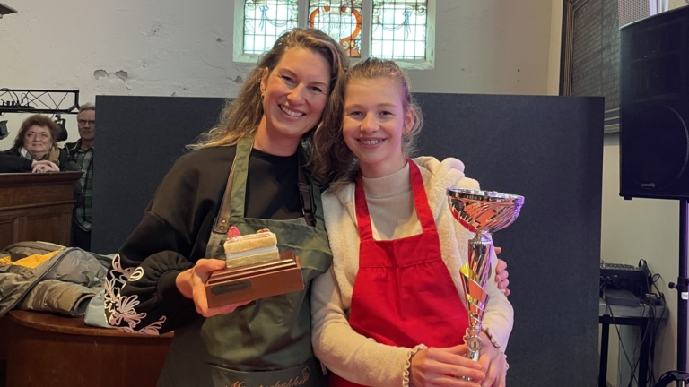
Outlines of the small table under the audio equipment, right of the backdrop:
M656 305L655 318L660 319L665 314L665 306ZM601 343L600 343L600 368L598 371L598 387L606 387L607 375L607 349L610 341L610 325L629 325L638 326L641 328L641 338L645 338L641 342L640 358L646 359L650 355L650 335L646 335L646 325L649 323L650 314L649 305L639 306L622 306L622 305L607 305L603 298L600 298L598 303L598 323L602 325ZM648 378L649 369L646 362L639 363L639 387L646 387L646 379Z

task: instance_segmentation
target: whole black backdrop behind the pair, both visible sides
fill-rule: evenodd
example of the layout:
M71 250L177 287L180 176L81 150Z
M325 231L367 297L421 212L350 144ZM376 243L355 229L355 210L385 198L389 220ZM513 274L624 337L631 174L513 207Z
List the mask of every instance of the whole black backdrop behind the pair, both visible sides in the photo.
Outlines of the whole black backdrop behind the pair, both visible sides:
M416 94L419 154L464 161L484 189L526 197L495 234L510 264L508 385L597 384L602 98ZM93 250L112 253L222 99L97 98ZM458 332L461 334L461 332Z

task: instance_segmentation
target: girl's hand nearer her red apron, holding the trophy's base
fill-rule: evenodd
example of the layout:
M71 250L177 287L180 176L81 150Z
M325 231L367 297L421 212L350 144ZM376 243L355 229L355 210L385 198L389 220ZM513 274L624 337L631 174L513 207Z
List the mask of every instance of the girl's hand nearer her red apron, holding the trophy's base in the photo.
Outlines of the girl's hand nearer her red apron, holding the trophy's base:
M490 341L488 341L490 344ZM409 381L414 387L457 386L479 387L485 374L479 362L465 357L467 345L450 348L426 348L412 357ZM464 380L464 376L472 379Z

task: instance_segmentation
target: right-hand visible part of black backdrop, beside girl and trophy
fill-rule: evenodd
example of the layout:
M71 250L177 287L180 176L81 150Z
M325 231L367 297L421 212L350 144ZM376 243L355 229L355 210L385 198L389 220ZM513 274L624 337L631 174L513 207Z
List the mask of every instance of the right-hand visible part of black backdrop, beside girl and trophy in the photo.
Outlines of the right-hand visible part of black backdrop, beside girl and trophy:
M515 309L508 385L597 385L603 99L417 98L420 154L461 159L483 189L525 197L493 236Z

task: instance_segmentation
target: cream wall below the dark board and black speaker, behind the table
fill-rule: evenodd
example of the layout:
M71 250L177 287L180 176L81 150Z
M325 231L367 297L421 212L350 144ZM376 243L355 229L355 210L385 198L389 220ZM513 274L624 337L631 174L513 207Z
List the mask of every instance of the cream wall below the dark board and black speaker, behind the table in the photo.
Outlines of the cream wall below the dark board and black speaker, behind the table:
M620 197L620 146L617 133L606 134L603 149L603 202L601 257L606 262L638 264L640 259L649 263L650 271L663 280L658 288L665 294L668 316L660 325L656 344L656 376L676 369L677 293L667 288L676 282L679 256L679 202L658 199L632 199ZM627 333L624 333L627 331ZM638 330L623 329L624 349L635 348ZM619 385L627 385L624 370L628 368L622 348L615 347L617 334L610 330L608 382L616 386L617 367L622 370Z

